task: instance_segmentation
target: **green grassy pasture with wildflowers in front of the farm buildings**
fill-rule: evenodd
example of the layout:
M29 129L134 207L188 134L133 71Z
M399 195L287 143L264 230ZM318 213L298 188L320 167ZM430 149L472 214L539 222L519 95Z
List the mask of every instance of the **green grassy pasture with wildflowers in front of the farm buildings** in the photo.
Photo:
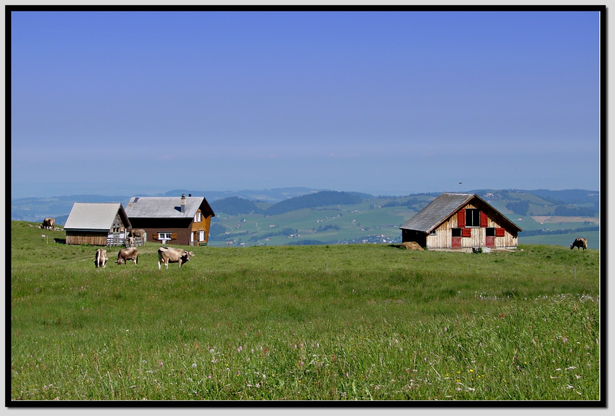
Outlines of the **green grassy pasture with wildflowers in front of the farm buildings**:
M11 223L11 406L603 398L595 249L194 247L158 270L149 244L95 269L31 225Z

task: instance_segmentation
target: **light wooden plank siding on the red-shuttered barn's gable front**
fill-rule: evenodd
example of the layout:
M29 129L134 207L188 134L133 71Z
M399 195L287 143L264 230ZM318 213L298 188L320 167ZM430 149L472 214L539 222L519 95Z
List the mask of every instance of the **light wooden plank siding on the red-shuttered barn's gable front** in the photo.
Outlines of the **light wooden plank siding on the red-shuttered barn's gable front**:
M503 236L494 236L494 247L497 248L517 248L518 237L515 232L510 233L509 230L504 228L504 222L502 222L502 218L498 218L493 210L489 207L482 206L482 204L476 204L478 201L472 201L466 206L462 207L465 209L479 209L481 212L480 217L480 225L481 226L472 226L466 227L464 223L459 224L459 221L465 222L465 212L463 214L458 214L455 212L453 215L448 217L442 224L440 224L435 229L434 234L428 234L426 236L426 244L427 249L451 249L452 241L453 241L453 228L460 228L459 225L464 225L463 229L465 230L461 234L461 248L471 248L471 247L485 247L486 240L486 230L487 228L499 228L498 234L503 232ZM483 226L485 225L485 226ZM470 236L464 236L467 233Z

